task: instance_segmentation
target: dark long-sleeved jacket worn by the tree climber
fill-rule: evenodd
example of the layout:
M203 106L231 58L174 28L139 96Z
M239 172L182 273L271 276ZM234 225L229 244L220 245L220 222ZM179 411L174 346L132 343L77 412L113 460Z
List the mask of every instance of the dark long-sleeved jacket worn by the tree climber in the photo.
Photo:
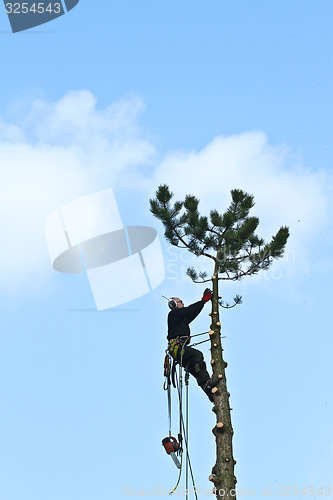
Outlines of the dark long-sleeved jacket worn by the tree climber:
M188 337L191 333L188 325L198 316L204 305L205 301L199 300L190 306L172 309L168 315L168 340Z

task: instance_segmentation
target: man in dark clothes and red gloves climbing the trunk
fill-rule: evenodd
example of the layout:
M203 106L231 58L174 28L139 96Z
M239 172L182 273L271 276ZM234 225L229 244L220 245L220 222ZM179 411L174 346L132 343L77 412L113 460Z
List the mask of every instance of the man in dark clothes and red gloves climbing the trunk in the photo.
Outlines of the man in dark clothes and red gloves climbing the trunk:
M214 403L211 390L220 382L220 379L218 377L216 379L210 378L202 352L187 345L191 334L189 323L198 316L212 297L213 292L206 288L202 299L187 307L178 297L172 297L169 300L171 311L168 315L168 341L172 357L197 379L198 385Z

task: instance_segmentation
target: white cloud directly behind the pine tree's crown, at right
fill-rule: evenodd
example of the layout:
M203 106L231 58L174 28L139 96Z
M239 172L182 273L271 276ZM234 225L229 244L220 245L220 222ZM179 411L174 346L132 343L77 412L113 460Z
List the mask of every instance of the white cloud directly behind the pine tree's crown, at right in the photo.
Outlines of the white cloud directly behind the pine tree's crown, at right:
M206 215L211 209L223 212L233 188L253 194L251 213L260 218L260 236L269 241L282 225L290 228L288 258L274 265L292 279L307 272L310 248L331 213L331 176L305 168L285 146L269 145L260 131L217 137L201 151L169 153L155 172L155 185L164 183L174 199L197 196ZM279 273L276 269L275 280Z

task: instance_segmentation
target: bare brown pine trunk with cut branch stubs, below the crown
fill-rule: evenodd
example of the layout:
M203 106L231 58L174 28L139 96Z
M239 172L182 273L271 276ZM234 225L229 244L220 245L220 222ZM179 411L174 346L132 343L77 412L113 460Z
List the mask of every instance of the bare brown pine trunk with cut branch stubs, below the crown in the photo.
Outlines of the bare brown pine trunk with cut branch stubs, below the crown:
M209 476L214 483L214 492L218 500L234 500L236 498L236 477L234 474L235 460L232 452L233 429L231 425L231 412L229 405L229 392L225 368L227 363L223 360L223 349L221 342L221 324L218 303L218 270L212 278L213 300L212 300L212 322L211 322L211 354L213 377L219 377L221 381L213 389L215 405L213 411L216 413L216 426L213 434L216 440L216 463ZM215 391L215 392L214 392Z

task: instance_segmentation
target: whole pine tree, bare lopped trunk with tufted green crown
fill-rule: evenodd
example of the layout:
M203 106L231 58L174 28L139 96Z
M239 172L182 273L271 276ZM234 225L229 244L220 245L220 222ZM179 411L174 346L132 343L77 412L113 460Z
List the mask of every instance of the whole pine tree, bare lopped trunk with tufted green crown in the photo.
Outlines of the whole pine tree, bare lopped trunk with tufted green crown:
M236 477L234 475L235 460L232 450L233 428L229 406L229 392L225 368L227 363L222 355L220 307L233 307L241 302L236 295L234 304L224 305L219 296L219 281L239 280L244 276L268 269L274 259L283 255L289 229L281 227L270 243L255 234L259 224L258 217L250 217L254 206L253 196L233 189L231 204L220 214L217 210L210 212L209 218L198 212L199 200L187 195L184 201L176 201L173 205L173 193L167 185L159 186L156 197L150 200L151 212L161 220L165 228L165 237L179 248L186 248L197 257L207 257L212 262L213 274L208 277L205 272L197 272L193 267L187 270L188 276L195 283L211 282L213 289L210 341L213 380L219 379L218 386L211 390L215 405L216 426L213 429L216 441L216 463L209 479L214 484L218 500L234 500L236 498Z

